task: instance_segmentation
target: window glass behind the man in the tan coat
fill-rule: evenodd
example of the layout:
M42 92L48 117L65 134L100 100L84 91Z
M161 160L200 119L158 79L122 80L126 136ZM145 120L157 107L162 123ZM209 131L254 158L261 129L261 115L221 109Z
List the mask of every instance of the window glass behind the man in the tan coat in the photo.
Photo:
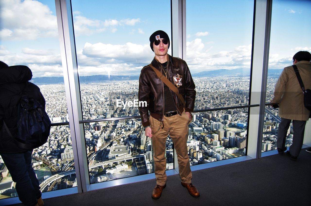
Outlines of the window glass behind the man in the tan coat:
M299 51L311 52L311 2L273 0L271 37L267 79L266 102L274 95L276 82L284 67L293 65L292 59ZM284 43L286 42L286 43ZM281 122L279 109L266 106L262 137L262 152L276 150L278 125ZM285 146L292 144L292 123L287 132Z

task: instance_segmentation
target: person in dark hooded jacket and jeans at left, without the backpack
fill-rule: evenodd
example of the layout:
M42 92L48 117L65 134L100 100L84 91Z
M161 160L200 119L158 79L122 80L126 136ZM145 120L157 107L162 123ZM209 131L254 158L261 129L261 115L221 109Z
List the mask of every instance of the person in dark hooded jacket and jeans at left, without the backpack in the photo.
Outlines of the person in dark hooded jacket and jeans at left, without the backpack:
M17 133L16 107L21 92L31 78L32 72L27 66L8 66L0 61L0 155L11 174L12 180L16 182L15 187L21 202L30 206L42 206L44 203L39 181L31 165L32 150L17 147L3 125L5 122L14 137ZM27 96L36 99L45 106L44 97L35 84L29 84Z

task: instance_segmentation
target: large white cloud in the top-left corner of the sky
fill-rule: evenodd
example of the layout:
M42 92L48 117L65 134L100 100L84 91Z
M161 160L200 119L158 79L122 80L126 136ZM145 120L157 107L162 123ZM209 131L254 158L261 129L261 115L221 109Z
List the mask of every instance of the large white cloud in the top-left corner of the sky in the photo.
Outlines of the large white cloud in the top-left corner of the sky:
M2 40L57 37L57 20L47 5L33 0L2 0Z

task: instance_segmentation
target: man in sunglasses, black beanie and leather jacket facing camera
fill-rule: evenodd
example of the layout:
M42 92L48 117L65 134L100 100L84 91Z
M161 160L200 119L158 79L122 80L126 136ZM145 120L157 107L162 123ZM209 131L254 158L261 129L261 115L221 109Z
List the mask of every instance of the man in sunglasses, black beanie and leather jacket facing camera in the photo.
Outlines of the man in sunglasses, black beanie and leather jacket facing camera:
M145 134L152 138L156 187L151 197L160 198L166 186L165 143L168 134L174 142L177 153L181 184L188 189L190 195L199 197L200 193L197 188L191 184L192 173L187 150L188 123L192 120L196 95L195 85L186 62L167 54L170 41L164 31L154 32L149 40L155 57L151 65L141 70L138 98L139 101L148 103L147 106L140 107L139 112ZM183 96L184 105L178 95L158 78L152 67L173 83L178 93Z

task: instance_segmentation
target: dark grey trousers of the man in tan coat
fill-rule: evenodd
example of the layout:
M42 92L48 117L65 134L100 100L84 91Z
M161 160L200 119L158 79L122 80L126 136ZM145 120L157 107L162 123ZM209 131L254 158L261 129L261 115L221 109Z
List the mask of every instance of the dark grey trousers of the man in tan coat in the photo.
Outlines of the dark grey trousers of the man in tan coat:
M281 118L277 132L277 148L285 149L285 140L287 130L290 126L291 119ZM306 126L307 121L293 120L293 144L290 146L290 154L298 157L299 152L304 141L304 127Z

